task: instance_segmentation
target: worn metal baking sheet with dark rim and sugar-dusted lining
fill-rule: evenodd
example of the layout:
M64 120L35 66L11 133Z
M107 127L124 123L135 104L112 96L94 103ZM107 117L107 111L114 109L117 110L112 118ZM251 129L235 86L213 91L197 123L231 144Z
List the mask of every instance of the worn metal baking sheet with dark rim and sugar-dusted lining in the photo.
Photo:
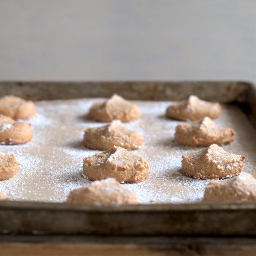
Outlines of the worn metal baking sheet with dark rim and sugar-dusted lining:
M189 189L188 184L191 180L195 182L197 180L185 177L180 168L181 154L193 149L175 145L173 141L175 121L167 120L163 116L164 109L171 100L185 98L188 94L197 94L203 99L222 103L236 105L239 103L239 107L234 105L224 107L220 119L216 122L234 128L235 141L224 146L224 149L245 155L244 171L255 175L255 140L252 139L255 130L247 120L249 115L252 121L255 120L253 85L229 81L0 82L1 95L15 94L32 100L109 97L113 93L121 94L130 100L164 100L164 102L137 101L145 118L143 121L147 121L148 125L142 122L143 117L128 124L129 128L141 131L145 137L144 147L135 150L135 154L144 156L151 162L151 174L147 181L125 185L138 194L142 204L100 207L56 203L65 200L69 189L88 184L89 181L81 177L81 166L82 158L87 154L91 155L92 151L80 148L79 143L85 128L91 125L100 126L101 123L91 122L85 118L93 99L39 101L37 102L39 114L31 120L34 129L33 141L20 146L2 146L4 151L17 155L22 166L19 173L10 180L12 183L10 182L9 189L8 186L1 185L10 199L19 200L0 202L1 233L256 235L255 203L199 202L205 184L200 185L201 181L199 181L197 183L199 185L189 185ZM166 102L167 100L169 102ZM66 113L69 110L68 102L72 109L74 103L80 107L76 108L77 112L75 111L73 115ZM152 104L157 108L153 109ZM57 106L58 110L55 109ZM240 107L246 110L247 116ZM144 108L148 108L149 111ZM152 126L152 123L155 126ZM158 132L160 128L161 134ZM149 134L152 132L159 136L150 137ZM95 152L93 151L93 154ZM161 155L165 162L159 166L161 168L158 168L161 171L154 173L152 171L157 169L159 162L155 158L156 155ZM19 175L20 184L15 182ZM174 176L175 180L171 179ZM153 182L150 185L154 179L158 180L158 184ZM171 180L176 183L169 182ZM138 193L139 190L135 189L135 185L138 185L137 188L142 186L145 193ZM148 192L150 189L152 193ZM149 200L153 202L148 204Z

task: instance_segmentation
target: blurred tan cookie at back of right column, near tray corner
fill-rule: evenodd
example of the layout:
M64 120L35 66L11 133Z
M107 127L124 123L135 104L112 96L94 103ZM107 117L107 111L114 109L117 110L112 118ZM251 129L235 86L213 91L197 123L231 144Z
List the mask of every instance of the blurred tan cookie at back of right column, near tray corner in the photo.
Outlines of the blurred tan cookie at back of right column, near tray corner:
M215 119L220 114L221 106L219 103L202 101L194 95L189 96L187 100L170 105L166 110L167 117L182 121L195 121L205 116Z

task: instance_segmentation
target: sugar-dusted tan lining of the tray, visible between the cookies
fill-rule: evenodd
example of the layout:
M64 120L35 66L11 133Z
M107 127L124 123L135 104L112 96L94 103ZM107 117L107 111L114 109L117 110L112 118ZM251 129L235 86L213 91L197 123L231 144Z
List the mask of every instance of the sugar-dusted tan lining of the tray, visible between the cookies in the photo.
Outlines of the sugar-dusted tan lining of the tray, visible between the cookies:
M100 151L82 148L80 142L84 129L105 124L86 118L92 103L99 100L102 99L36 102L38 114L27 121L34 131L32 141L24 145L0 145L1 150L13 153L21 164L13 178L0 181L0 191L9 200L64 202L71 189L91 183L81 175L83 158ZM150 162L149 177L144 182L122 186L135 192L141 203L201 200L209 180L196 180L182 173L182 154L195 148L174 142L175 126L179 121L164 116L171 102L134 102L140 108L141 118L124 125L144 136L144 146L133 153ZM241 109L223 106L216 123L235 130L235 141L223 148L245 155L243 171L256 177L256 134Z

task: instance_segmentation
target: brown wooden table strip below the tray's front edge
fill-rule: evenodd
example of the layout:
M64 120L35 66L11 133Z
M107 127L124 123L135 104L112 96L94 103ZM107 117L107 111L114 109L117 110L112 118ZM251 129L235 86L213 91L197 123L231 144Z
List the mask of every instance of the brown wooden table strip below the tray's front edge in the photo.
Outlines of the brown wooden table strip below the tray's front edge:
M255 256L256 238L0 236L1 256Z

